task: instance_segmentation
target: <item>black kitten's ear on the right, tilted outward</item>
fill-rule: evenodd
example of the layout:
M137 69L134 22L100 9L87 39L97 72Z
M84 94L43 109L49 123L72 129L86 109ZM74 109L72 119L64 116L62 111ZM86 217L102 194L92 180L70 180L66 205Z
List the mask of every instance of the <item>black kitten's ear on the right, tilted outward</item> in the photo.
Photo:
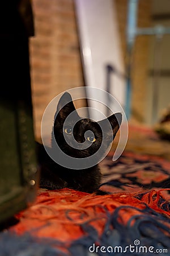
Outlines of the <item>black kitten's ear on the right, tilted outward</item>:
M111 127L113 130L113 138L116 136L116 133L118 131L118 129L120 128L121 122L122 122L122 114L121 113L116 113L111 115L110 117L102 120L99 122L99 125L101 123L101 125L108 126L108 122L111 123ZM105 127L107 130L107 127Z

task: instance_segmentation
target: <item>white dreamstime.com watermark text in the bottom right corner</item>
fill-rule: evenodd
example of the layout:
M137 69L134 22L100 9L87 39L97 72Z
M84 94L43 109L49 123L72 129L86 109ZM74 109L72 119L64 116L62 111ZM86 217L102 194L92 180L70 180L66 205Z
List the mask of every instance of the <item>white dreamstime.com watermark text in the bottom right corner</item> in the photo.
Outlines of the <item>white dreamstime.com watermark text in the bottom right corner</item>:
M122 246L96 246L95 243L88 248L90 253L168 253L168 249L155 248L154 246L142 246L140 240L134 240L133 245Z

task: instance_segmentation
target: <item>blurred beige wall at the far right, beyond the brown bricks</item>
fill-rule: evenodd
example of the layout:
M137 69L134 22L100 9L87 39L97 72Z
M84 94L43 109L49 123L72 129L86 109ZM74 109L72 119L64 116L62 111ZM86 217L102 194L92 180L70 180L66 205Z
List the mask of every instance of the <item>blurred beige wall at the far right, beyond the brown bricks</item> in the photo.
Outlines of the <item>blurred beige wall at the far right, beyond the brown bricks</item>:
M170 1L152 0L152 26L170 27ZM150 36L150 52L147 88L146 122L153 125L162 119L162 114L170 105L170 34ZM154 93L157 92L157 93Z

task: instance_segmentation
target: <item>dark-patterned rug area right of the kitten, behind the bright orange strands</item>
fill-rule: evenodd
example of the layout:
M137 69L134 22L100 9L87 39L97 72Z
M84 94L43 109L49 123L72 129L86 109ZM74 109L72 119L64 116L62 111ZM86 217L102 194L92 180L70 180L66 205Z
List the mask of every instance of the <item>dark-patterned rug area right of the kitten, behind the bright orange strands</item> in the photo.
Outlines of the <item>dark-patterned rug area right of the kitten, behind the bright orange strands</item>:
M160 156L126 152L112 162L111 152L101 162L101 170L104 175L101 188L111 193L170 188L170 162Z

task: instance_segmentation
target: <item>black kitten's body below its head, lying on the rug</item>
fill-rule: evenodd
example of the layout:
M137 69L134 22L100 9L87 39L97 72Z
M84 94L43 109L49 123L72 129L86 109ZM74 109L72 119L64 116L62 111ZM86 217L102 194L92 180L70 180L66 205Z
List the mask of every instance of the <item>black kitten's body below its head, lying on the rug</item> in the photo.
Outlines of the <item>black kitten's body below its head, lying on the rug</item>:
M41 162L41 188L71 188L88 193L99 188L101 174L98 165L83 170L71 170L54 162L46 154L43 145L39 144L38 147L39 162Z

